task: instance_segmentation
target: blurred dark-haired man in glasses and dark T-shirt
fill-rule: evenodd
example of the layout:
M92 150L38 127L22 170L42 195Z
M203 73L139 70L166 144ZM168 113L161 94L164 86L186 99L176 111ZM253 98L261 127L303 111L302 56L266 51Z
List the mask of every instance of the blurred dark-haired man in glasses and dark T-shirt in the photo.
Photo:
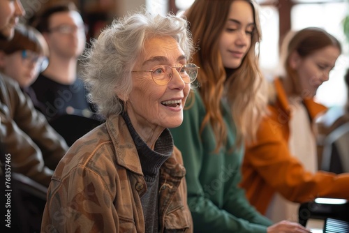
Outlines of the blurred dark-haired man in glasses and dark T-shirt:
M29 23L43 34L50 49L50 63L31 88L45 106L47 120L70 146L101 123L77 74L86 44L84 22L73 2L55 1L46 3Z

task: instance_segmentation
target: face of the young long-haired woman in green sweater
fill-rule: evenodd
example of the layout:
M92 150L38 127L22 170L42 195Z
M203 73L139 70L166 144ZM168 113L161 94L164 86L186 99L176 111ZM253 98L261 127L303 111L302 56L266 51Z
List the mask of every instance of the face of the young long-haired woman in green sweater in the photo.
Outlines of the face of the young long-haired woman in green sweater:
M251 47L251 38L255 29L253 11L246 1L232 1L227 22L219 40L223 66L238 68Z

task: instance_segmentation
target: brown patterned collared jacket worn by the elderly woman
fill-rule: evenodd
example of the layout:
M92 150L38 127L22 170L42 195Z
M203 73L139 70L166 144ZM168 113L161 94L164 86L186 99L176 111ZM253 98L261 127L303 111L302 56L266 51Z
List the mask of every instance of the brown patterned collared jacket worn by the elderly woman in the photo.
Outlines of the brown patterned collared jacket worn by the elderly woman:
M181 153L160 169L160 232L192 232ZM124 119L109 117L77 140L61 160L47 193L41 232L144 232L140 197L147 191Z

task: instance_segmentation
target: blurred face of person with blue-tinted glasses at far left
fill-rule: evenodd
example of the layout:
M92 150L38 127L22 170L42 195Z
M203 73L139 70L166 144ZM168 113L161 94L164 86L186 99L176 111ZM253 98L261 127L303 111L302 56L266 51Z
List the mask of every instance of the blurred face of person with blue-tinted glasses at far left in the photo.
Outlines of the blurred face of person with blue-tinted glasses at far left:
M29 87L36 80L40 71L38 54L30 50L26 50L25 56L22 50L12 54L0 53L3 73L16 80L20 87Z

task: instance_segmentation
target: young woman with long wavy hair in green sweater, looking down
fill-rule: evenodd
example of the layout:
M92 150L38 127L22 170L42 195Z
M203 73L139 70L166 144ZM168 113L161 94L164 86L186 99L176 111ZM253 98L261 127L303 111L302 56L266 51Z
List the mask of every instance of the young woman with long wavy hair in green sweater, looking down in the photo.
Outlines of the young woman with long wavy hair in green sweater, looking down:
M217 14L219 12L219 14ZM198 88L172 128L183 154L195 232L309 232L286 220L272 224L239 188L244 141L265 113L255 54L260 41L255 1L194 1L186 13L198 43Z

